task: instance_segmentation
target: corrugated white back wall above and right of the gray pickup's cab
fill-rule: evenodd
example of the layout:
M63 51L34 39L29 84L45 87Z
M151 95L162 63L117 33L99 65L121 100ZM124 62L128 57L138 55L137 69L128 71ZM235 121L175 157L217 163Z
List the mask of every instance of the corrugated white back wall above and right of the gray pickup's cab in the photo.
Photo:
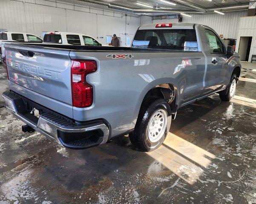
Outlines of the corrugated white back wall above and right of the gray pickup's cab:
M183 23L198 23L213 28L224 38L236 39L240 17L247 15L247 11L221 14L193 14L192 17L183 16Z

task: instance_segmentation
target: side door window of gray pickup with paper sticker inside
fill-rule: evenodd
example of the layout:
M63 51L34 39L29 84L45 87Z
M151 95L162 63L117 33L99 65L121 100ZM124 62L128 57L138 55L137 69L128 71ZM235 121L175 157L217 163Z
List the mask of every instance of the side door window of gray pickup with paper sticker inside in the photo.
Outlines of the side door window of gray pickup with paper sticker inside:
M224 47L219 37L207 29L205 29L205 34L210 53L224 53Z

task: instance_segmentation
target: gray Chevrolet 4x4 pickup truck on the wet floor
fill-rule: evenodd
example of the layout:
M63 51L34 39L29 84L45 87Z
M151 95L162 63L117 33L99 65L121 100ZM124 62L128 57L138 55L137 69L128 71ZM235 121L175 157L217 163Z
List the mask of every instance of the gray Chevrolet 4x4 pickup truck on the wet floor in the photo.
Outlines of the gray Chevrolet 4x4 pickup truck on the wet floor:
M178 108L236 91L240 60L213 29L189 23L140 26L131 48L6 43L6 108L64 147L84 149L129 133L158 148Z

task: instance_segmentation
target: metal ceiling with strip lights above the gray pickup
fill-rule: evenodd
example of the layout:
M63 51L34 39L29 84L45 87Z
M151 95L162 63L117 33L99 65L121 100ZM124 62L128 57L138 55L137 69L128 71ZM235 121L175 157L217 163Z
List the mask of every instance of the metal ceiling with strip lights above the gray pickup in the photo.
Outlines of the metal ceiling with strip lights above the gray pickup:
M81 0L136 14L208 14L247 11L250 0ZM165 1L165 2L164 2ZM176 5L171 5L170 3ZM139 4L138 4L139 3Z

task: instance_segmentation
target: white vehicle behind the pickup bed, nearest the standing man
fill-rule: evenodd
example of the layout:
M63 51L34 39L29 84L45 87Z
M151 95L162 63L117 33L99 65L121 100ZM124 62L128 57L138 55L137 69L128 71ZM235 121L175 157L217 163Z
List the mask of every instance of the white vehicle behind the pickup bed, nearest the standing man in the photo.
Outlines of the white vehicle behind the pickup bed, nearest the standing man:
M89 46L108 46L101 45L93 37L81 33L66 32L46 32L43 36L43 43L59 43L63 45L89 45Z

